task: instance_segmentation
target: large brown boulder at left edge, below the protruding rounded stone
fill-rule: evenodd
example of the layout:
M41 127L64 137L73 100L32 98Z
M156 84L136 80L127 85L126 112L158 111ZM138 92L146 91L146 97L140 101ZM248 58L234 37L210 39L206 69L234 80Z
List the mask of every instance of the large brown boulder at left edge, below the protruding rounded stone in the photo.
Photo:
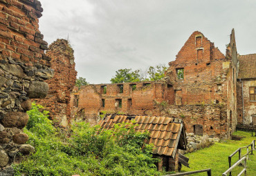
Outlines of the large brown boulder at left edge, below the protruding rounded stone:
M27 113L21 112L9 112L6 115L3 115L1 123L6 128L19 128L22 129L28 124L29 116Z

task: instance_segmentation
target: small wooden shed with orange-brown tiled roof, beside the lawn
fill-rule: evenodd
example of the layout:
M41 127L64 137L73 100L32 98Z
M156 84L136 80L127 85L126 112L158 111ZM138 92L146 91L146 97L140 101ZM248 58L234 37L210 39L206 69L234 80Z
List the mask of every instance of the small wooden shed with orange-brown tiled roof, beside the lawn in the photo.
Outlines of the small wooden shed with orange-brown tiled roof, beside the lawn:
M129 123L134 119L134 128L138 132L148 130L148 144L154 144L154 157L161 159L157 164L158 170L178 171L181 164L188 166L188 158L179 154L179 150L186 150L187 140L182 119L172 117L149 117L136 115L106 115L100 121L104 129L111 129L115 124Z

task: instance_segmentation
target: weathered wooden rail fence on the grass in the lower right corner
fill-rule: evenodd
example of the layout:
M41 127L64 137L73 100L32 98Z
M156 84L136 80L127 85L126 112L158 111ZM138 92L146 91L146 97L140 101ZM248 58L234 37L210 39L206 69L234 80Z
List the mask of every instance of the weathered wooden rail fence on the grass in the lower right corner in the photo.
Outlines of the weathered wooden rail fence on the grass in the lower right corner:
M241 149L246 148L246 154L241 156ZM249 150L250 148L250 150ZM244 173L246 175L246 160L249 159L249 154L253 155L253 150L255 150L255 140L252 141L251 144L249 144L248 146L244 146L241 148L238 148L237 150L235 150L234 153L232 153L230 156L228 156L228 170L226 170L225 173L223 173L223 176L225 176L226 173L229 173L229 176L232 176L231 171L233 168L235 168L236 166L238 166L239 164L241 165L241 162L244 161L245 165L244 165L244 169L241 171L241 173L239 173L239 175L241 175L242 173ZM235 164L233 164L231 166L231 162L232 162L232 157L238 153L238 161L235 162ZM244 157L246 157L246 159L244 160Z

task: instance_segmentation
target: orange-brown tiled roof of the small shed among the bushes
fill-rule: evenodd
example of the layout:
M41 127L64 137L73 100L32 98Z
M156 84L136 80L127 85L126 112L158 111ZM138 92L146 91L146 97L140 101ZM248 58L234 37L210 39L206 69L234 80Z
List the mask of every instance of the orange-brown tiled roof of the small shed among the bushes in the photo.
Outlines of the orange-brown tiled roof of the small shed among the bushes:
M104 129L111 129L118 123L131 123L136 121L134 129L138 132L148 130L148 144L154 144L154 154L174 157L177 148L185 149L186 139L181 119L171 117L148 117L148 116L127 116L109 115L102 121L100 126ZM179 142L181 140L181 142Z

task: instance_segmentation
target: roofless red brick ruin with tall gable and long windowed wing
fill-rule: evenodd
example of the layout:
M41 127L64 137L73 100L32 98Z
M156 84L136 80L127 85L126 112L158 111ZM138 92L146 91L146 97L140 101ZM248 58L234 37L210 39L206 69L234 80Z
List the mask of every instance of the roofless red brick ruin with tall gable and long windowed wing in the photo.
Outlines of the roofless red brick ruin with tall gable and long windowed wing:
M176 60L169 63L164 80L75 89L71 95L71 116L96 124L105 113L167 115L182 118L188 133L230 137L237 120L246 119L244 122L250 123L256 114L255 67L246 65L250 62L247 60L255 61L255 57L237 54L234 30L226 55L196 31L176 55ZM242 73L243 69L248 74ZM239 76L246 74L248 77ZM247 86L241 91L241 81L246 81L243 85L248 84L250 88ZM241 92L244 93L244 115L237 113L241 112ZM250 110L245 106L250 106Z

